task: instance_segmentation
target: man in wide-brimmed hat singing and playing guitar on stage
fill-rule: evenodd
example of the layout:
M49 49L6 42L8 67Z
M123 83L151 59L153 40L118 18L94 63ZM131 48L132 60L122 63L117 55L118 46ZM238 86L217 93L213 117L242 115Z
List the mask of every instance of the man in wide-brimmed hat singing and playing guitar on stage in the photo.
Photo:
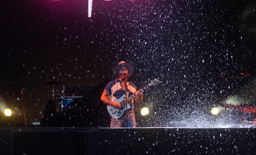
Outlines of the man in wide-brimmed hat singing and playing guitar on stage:
M136 127L134 102L143 100L142 91L137 91L134 83L127 79L133 73L134 67L124 61L119 62L113 69L113 75L117 77L110 81L101 95L101 101L107 104L107 110L111 115L111 128Z

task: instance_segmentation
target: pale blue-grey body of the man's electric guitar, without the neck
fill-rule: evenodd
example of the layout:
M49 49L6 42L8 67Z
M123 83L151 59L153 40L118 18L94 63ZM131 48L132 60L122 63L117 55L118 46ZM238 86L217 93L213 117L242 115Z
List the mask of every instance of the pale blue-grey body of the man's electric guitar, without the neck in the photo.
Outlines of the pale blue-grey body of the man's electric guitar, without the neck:
M114 100L114 102L118 102L121 103L123 102L125 99L125 94L123 96L121 96L120 98ZM111 117L113 117L114 119L119 119L121 117L121 115L123 115L123 113L125 112L125 110L130 109L131 106L130 104L127 104L127 108L126 108L126 104L123 105L121 103L122 107L121 109L119 108L115 108L112 105L107 105L107 111L109 112L109 114L111 115Z

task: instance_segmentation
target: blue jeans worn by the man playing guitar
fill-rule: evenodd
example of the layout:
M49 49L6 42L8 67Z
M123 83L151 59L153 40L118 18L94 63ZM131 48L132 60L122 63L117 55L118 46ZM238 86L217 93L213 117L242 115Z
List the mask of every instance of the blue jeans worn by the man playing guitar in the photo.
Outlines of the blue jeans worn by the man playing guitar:
M128 115L128 126L126 120L126 113ZM125 110L123 115L116 121L116 119L111 118L110 128L118 128L118 127L136 127L135 114L133 109Z

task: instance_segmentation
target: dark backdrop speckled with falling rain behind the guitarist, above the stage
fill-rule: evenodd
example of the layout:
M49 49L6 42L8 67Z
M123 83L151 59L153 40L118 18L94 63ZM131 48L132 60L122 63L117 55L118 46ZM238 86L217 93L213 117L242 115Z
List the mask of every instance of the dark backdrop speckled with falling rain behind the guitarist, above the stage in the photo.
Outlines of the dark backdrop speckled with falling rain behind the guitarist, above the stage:
M121 60L134 65L130 80L138 88L161 80L135 108L138 126L212 127L220 120L210 112L217 103L255 105L255 8L254 0L93 0L88 17L87 0L2 1L1 127L24 126L20 91L32 126L52 98L52 85L43 83L98 86ZM109 125L103 88L78 104ZM55 85L55 96L62 90ZM14 106L16 125L2 115ZM146 117L139 114L144 106Z

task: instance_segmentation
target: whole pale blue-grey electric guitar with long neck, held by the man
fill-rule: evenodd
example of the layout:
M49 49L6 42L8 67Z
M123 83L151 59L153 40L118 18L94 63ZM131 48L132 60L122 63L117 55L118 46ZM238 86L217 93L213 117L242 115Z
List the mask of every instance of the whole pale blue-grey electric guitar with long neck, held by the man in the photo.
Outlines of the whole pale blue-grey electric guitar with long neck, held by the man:
M149 88L150 86L159 83L159 79L154 79L152 80L149 84L147 84L146 86L144 86L143 88L141 88L139 91L143 93L144 90L146 90L147 88ZM128 93L128 92L127 92ZM127 98L127 102L129 102L130 100L132 100L136 95L133 94L131 96L129 96ZM122 108L115 108L112 105L107 105L107 111L109 112L109 114L111 115L111 117L113 117L114 119L119 119L121 117L121 115L125 112L125 110L128 110L131 108L131 106L129 104L127 104L127 108L126 108L126 98L125 98L125 94L123 96L121 96L120 98L114 100L114 102L119 102L122 106Z

